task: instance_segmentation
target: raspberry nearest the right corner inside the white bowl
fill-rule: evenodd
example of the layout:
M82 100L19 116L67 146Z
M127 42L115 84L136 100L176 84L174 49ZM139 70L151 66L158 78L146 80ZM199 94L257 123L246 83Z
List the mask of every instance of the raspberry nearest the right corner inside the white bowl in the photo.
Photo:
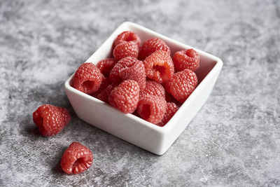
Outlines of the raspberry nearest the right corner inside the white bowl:
M176 71L184 69L195 71L200 67L200 55L193 49L180 50L174 54L173 62Z

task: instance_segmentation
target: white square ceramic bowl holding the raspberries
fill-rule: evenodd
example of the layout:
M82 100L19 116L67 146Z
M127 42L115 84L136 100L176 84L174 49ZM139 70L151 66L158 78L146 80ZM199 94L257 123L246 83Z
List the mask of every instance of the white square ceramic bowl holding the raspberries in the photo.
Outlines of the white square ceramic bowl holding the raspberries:
M167 43L172 55L178 50L193 48L135 23L124 22L86 62L97 64L100 60L110 57L113 41L118 34L124 31L137 33L142 42L154 37L160 38ZM207 101L223 67L223 62L218 57L194 49L200 55L200 68L195 71L198 78L197 88L164 127L149 123L130 113L124 114L109 104L76 90L71 87L73 75L64 83L64 90L74 111L81 120L147 151L162 155L185 130L190 120Z

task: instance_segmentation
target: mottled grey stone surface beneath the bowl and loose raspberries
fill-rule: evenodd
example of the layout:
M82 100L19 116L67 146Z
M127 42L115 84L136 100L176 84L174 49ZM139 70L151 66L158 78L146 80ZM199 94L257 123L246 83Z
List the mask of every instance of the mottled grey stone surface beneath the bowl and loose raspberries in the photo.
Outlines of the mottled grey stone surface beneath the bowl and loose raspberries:
M82 120L62 84L124 21L212 53L216 86L165 155ZM0 186L280 186L280 1L0 1ZM65 106L73 119L42 137L31 113ZM66 175L80 141L94 164Z

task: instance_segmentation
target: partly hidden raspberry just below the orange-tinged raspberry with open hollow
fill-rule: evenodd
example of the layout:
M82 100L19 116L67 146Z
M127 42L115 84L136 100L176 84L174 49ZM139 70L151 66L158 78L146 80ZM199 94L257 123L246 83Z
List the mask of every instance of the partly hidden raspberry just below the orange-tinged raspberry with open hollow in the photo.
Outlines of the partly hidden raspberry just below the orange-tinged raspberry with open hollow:
M140 98L145 95L155 95L158 97L165 97L165 88L160 83L155 81L147 81L146 88L140 92Z

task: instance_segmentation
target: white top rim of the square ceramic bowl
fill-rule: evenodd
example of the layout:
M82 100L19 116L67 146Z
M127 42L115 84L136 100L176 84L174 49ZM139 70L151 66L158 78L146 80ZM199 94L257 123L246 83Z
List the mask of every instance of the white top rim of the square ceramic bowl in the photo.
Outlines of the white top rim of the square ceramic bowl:
M148 34L153 34L155 36L157 36L158 38L164 40L164 41L168 41L169 43L173 43L174 45L176 46L179 46L180 48L183 48L183 49L189 49L189 48L193 48L192 46L188 46L186 45L185 43L181 43L179 41L176 41L174 39L171 39L167 36L164 36L162 34L159 34L158 32L154 32L153 30L151 29L148 29L146 27L143 27L141 25L138 25L134 22L123 22L123 24L121 24L117 29L114 30L114 32L108 37L108 39L106 39L106 41L104 41L104 43L102 43L101 46L99 46L99 48L97 48L97 50L95 50L94 53L92 53L92 55L90 55L90 57L85 60L85 62L91 62L92 60L92 57L94 57L94 55L96 55L97 53L99 53L99 51L102 49L102 46L105 46L106 43L108 43L109 41L113 40L118 34L119 30L122 28L122 27L126 27L126 26L130 26L130 27L135 27L137 29L140 29L142 30L143 32L147 32ZM129 30L129 29L128 29ZM197 88L195 88L195 90L192 92L192 94L188 97L188 99L186 99L185 102L183 102L183 104L181 105L181 107L179 108L178 111L181 111L183 110L182 108L187 108L187 106L189 105L190 101L193 100L195 98L195 95L197 92L200 92L200 90L202 89L202 87L211 79L211 77L213 77L217 71L219 71L219 69L221 69L221 67L223 67L223 61L214 56L214 55L211 55L207 52L204 52L202 50L199 50L197 48L193 48L195 49L200 55L204 55L205 57L211 59L211 60L214 60L216 62L216 64L214 65L214 67L209 71L209 73L202 79L202 81L200 82L199 85L197 85ZM83 62L83 63L85 63ZM91 62L93 63L93 62ZM90 99L90 101L92 102L98 102L99 104L103 104L104 107L106 107L108 110L110 111L113 111L113 112L118 112L118 113L121 113L122 115L125 115L127 116L128 118L132 119L132 120L135 120L137 123L141 123L142 125L145 125L146 127L148 128L151 128L151 130L155 130L157 132L160 132L160 133L163 133L163 134L167 134L169 132L169 130L171 128L173 128L172 126L172 122L173 120L176 118L176 116L179 114L178 111L174 114L174 116L169 120L168 123L165 124L165 126L163 127L160 127L158 125L155 125L153 123L150 123L142 118L139 118L138 116L134 116L132 113L122 113L121 111L118 111L118 109L115 109L113 108L113 106L109 105L109 104L106 104L105 102L102 102L101 100L95 98L95 97L92 97L90 95L87 95L85 94L84 92L81 92L79 90L76 90L76 88L73 88L71 85L70 85L70 81L71 79L73 78L73 75L75 74L75 72L65 81L64 83L64 90L68 90L70 92L73 92L75 93L76 95L80 95L80 97L85 97L87 99Z

